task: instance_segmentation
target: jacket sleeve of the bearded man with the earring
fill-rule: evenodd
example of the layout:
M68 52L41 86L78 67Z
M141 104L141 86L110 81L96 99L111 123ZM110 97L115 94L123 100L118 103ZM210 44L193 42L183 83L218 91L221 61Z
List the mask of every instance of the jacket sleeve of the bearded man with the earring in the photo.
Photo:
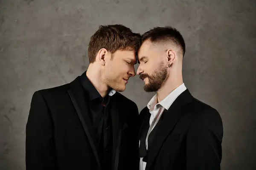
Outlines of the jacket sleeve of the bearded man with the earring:
M223 126L215 109L198 113L186 141L187 170L220 170Z

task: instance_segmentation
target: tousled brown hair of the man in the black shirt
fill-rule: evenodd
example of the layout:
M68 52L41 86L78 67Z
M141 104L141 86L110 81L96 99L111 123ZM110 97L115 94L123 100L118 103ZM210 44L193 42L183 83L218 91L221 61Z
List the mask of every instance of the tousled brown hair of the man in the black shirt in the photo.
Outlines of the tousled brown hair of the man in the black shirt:
M101 48L106 48L112 54L117 50L137 52L140 48L141 35L133 33L123 25L99 26L99 29L90 38L88 46L89 62L93 63L96 54Z

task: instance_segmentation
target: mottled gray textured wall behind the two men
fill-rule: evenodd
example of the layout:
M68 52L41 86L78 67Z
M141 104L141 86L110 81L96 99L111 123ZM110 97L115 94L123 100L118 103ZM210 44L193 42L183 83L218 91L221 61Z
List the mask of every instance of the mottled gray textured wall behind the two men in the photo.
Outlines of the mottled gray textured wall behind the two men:
M85 71L89 37L115 23L180 30L185 85L223 119L222 169L255 169L255 21L255 0L0 0L0 169L25 170L33 92ZM132 78L123 93L139 110L153 96L142 86Z

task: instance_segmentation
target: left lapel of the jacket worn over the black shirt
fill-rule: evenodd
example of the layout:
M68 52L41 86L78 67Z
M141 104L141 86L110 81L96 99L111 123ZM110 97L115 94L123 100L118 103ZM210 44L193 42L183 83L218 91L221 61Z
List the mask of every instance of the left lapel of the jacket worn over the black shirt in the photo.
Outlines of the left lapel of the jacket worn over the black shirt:
M90 121L90 115L89 115L89 108L87 107L87 100L84 95L84 89L81 85L81 82L79 80L79 77L77 77L71 84L71 89L68 90L68 94L70 95L71 101L73 102L73 105L76 109L76 113L79 116L81 125L84 129L84 132L90 142L90 145L92 147L93 153L96 157L96 161L99 164L99 156L96 150L96 146L94 144L94 138L92 137L92 123Z

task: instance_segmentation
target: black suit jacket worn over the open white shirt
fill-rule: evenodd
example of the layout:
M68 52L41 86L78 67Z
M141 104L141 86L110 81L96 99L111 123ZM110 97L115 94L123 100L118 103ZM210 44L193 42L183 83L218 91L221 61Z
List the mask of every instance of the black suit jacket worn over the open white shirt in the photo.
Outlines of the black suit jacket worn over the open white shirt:
M140 135L149 124L148 108L140 113ZM148 147L146 170L220 170L223 125L214 108L187 89L168 111Z

